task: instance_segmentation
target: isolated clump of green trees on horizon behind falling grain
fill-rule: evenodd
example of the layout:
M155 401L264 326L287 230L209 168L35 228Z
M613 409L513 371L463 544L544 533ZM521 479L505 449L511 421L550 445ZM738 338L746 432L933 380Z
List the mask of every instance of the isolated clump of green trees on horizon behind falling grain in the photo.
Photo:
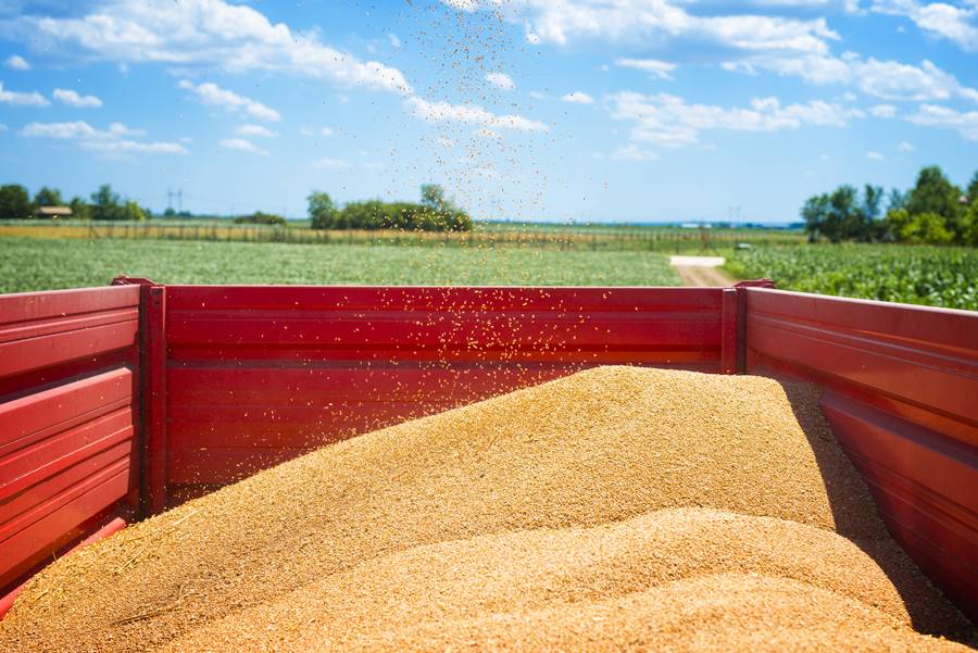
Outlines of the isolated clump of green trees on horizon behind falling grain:
M338 208L329 193L309 196L309 217L313 229L399 229L405 231L471 231L468 214L444 197L437 184L421 188L421 202L366 200Z

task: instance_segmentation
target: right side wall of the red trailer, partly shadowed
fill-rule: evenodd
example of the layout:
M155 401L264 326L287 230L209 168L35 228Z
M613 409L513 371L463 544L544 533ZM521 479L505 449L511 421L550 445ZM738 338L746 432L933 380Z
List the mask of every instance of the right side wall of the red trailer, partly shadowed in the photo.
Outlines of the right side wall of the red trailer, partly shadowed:
M824 385L890 531L978 617L978 313L747 292L749 371Z

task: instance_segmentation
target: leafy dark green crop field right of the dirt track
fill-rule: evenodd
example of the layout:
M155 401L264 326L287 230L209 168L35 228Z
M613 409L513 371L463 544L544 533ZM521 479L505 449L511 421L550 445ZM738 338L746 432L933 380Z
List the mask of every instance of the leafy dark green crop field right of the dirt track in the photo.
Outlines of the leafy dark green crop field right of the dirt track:
M778 288L978 311L978 249L806 244L739 252L727 269Z

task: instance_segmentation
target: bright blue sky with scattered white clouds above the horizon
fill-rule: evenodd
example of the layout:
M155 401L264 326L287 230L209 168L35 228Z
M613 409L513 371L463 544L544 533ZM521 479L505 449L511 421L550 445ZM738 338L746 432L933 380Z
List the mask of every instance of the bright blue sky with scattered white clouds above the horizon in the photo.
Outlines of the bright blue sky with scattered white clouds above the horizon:
M978 0L0 0L0 183L797 219L978 169Z

